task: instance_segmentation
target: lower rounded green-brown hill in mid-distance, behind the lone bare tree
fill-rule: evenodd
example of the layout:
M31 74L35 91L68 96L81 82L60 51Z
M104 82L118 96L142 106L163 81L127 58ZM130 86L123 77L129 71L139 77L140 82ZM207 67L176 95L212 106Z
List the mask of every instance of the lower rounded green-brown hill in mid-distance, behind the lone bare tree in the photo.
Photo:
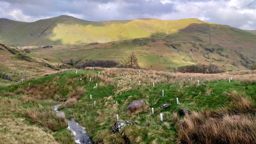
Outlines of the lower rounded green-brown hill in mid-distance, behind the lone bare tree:
M255 59L238 52L201 42L173 41L160 38L140 38L132 40L100 43L97 45L69 44L55 45L53 48L25 46L35 55L87 62L88 60L115 60L121 64L132 52L138 58L139 66L158 71L173 71L180 66L192 64L215 64L226 71L244 70ZM247 66L246 66L247 65Z

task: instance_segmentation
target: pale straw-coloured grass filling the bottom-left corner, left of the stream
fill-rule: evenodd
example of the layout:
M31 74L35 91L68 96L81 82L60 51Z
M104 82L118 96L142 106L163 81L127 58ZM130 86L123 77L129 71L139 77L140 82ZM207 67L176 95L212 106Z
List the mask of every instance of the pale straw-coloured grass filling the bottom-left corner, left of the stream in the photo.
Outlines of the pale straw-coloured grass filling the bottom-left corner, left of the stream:
M19 99L0 97L0 144L58 144L50 132L27 125L25 118L13 112L23 113Z

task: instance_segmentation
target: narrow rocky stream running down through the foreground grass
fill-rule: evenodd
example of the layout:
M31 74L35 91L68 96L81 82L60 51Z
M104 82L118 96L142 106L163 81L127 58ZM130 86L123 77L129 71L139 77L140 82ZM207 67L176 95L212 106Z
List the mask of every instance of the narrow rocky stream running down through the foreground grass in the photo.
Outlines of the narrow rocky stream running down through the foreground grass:
M58 111L59 106L61 104L57 104L53 106L53 110L57 112L57 116L65 117L65 113L63 111ZM94 144L90 139L90 135L86 134L85 128L78 125L74 118L68 120L68 130L72 131L72 134L75 136L75 142L77 144Z

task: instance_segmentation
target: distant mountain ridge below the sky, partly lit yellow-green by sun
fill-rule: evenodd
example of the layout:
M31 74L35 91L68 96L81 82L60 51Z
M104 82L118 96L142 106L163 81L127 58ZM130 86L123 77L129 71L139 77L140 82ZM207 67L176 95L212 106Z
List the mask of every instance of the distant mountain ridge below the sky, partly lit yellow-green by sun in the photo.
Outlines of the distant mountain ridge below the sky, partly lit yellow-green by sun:
M250 57L256 54L254 32L194 18L92 22L61 15L30 23L0 19L0 42L15 46L110 42L140 37L219 44Z

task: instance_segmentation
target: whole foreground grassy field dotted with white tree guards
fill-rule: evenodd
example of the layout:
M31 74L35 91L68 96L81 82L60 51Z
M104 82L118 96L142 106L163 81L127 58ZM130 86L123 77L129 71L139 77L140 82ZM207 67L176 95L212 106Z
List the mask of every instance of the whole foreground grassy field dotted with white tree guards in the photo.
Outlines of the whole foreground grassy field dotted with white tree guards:
M60 103L56 101L58 98L65 98L68 103L62 103L60 109L65 112L66 118L75 118L85 127L95 143L125 144L127 140L132 144L252 143L255 140L255 71L195 74L141 70L138 75L138 69L91 69L78 70L77 74L74 70L59 71L57 74L49 73L35 80L1 87L1 102L6 106L18 105L12 109L0 107L1 115L4 118L12 117L15 121L22 119L19 125L26 128L39 125L33 131L46 132L46 136L39 138L39 141L45 138L51 143L74 143L66 129L66 121L54 115L52 109L53 105ZM230 83L227 81L229 77L233 78ZM188 82L189 78L192 81ZM120 84L117 88L118 80ZM200 81L199 85L197 80ZM179 98L179 105L176 98ZM145 101L142 108L126 111L128 104L140 99ZM169 103L170 107L158 109L165 103ZM179 108L190 109L194 113L179 116ZM160 113L163 114L163 122L160 121ZM116 114L119 120L130 120L138 126L125 126L121 132L110 134ZM6 125L3 123L4 118L0 119L0 127ZM220 125L215 127L217 134L208 127L211 122ZM14 123L10 122L9 127L14 126ZM224 126L226 129L222 129ZM1 133L14 135L17 141L21 141L17 133L6 129L0 129ZM242 133L244 137L237 133ZM23 141L29 139L31 137ZM8 139L1 140L6 142Z

